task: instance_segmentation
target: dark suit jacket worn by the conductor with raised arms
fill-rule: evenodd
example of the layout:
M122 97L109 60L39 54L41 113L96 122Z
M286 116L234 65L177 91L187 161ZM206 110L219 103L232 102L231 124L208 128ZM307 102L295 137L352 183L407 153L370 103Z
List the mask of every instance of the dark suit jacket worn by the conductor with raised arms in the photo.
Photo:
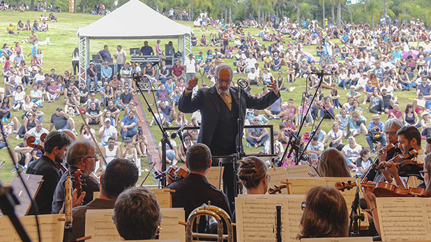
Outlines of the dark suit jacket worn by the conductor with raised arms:
M242 116L245 118L246 108L253 108L262 110L273 104L279 97L274 92L269 92L263 97L256 98L248 95L247 92L238 87L230 87L229 91L232 96L232 105L236 105L239 108L239 92L241 91L242 96ZM192 93L189 95L181 95L179 100L179 111L183 113L193 113L198 109L201 111L202 122L197 139L198 143L204 143L211 148L211 142L213 138L218 138L218 134L215 133L216 125L218 124L220 117L220 109L226 105L223 103L220 95L218 95L215 86L211 88L200 88L197 91L197 95L192 98ZM220 108L221 106L221 108ZM229 111L229 109L227 109ZM236 115L238 116L238 115ZM236 122L232 125L238 125ZM236 137L237 134L232 134ZM215 155L229 155L229 154L215 154Z

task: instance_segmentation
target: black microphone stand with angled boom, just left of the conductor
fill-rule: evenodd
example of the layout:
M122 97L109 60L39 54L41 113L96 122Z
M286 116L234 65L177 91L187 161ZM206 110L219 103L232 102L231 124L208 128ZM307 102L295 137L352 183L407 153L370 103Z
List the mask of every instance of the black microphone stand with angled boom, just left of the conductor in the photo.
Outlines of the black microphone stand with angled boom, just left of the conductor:
M151 105L149 104L148 100L146 99L146 97L144 95L144 92L142 92L142 90L139 86L139 81L141 81L141 78L146 78L147 81L149 81L148 78L145 76L139 76L136 73L133 74L133 81L135 81L135 83L136 83L137 90L139 90L142 97L144 98L146 106L148 106L147 110L151 113L151 115L153 115L154 120L156 120L157 126L159 127L160 131L162 132L162 136L163 136L162 141L161 141L161 143L162 143L162 172L165 172L165 170L166 170L166 144L169 145L170 149L173 149L173 147L169 141L169 138L167 137L165 130L162 127L162 124L160 124L160 122L158 122L156 115L154 114L153 109L151 108ZM149 85L149 88L151 89L151 83ZM162 184L162 188L165 188L167 186L167 181L166 181L165 176L160 178L160 183Z

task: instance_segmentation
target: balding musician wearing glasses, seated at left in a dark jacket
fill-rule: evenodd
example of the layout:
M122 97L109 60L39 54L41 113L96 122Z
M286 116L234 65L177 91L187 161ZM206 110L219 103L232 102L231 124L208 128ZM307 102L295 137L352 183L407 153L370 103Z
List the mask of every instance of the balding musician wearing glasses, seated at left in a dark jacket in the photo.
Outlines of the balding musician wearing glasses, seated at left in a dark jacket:
M100 184L96 179L90 176L94 171L96 161L96 150L94 145L89 140L77 140L70 145L66 162L69 164L70 176L73 177L75 172L80 169L82 171L81 179L85 181L85 186L82 191L86 193L83 204L87 204L93 200L93 193L100 191ZM57 184L52 201L52 213L59 213L63 207L66 189L64 183L68 172L64 172ZM75 183L73 188L75 188Z

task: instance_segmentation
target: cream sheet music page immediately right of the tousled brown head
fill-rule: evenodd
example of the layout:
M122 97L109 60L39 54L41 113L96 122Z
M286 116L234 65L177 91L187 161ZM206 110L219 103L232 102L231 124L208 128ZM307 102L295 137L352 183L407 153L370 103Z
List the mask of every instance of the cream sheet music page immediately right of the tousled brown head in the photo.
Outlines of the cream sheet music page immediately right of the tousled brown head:
M160 239L179 239L186 242L186 226L178 222L185 222L186 212L183 208L160 209L163 214L160 223Z

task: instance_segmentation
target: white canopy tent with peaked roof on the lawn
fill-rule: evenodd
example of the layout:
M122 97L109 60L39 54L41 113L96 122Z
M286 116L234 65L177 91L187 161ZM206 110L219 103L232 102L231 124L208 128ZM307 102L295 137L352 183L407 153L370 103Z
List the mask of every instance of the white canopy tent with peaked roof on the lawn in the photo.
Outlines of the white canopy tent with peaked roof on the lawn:
M191 27L160 15L138 0L130 0L109 15L78 29L80 81L89 66L91 39L178 39L178 51L185 58L191 53ZM84 74L83 74L84 73Z

